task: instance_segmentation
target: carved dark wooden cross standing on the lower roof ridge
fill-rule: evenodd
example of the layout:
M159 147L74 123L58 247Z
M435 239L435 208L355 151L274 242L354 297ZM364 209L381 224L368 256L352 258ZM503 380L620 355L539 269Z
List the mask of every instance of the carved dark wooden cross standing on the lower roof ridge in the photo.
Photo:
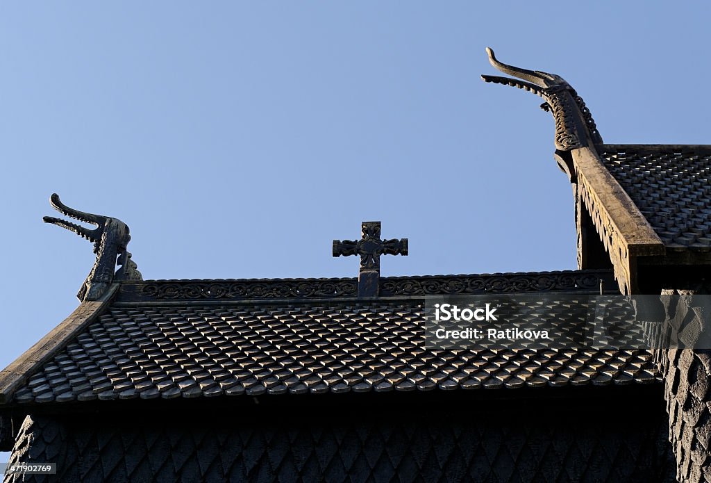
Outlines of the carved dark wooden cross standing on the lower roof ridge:
M407 238L381 240L380 221L363 221L358 241L333 240L333 256L360 255L358 297L378 297L380 255L407 255Z

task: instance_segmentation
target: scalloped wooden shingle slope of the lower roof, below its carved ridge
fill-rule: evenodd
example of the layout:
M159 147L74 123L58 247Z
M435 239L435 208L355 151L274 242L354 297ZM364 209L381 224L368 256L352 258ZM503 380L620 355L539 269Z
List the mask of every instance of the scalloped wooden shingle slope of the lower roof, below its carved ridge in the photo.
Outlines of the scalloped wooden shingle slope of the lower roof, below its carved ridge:
M432 345L424 297L161 303L119 295L28 369L5 405L658 381L643 334L616 348L583 342L589 318L566 298L580 293L528 292L533 302L515 320L490 326L525 322L549 339L449 346ZM624 322L626 310L609 317Z

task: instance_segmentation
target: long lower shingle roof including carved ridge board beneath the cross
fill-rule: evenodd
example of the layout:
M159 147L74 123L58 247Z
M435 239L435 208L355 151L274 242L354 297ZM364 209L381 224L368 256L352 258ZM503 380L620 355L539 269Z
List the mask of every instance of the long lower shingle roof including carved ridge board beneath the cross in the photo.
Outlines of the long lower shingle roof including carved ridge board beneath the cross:
M586 321L555 297L541 297L520 315L557 327L545 344L480 341L465 350L426 344L424 292L595 294L611 271L385 277L385 287L407 287L409 294L306 294L307 287L355 286L355 279L338 280L122 282L105 301L84 302L100 305L80 312L74 329L63 329L65 339L49 334L54 345L0 373L4 405L658 380L642 334L622 348L572 345L570 334L587 330ZM619 313L621 320L631 317Z

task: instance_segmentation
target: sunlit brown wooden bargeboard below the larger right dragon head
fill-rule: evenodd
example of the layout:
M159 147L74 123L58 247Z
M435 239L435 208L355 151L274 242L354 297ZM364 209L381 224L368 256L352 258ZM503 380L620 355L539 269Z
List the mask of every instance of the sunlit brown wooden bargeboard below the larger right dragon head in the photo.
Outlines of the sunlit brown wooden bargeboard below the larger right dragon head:
M574 149L572 159L577 196L587 206L600 240L610 255L620 291L638 293L636 258L663 255L664 244L594 149Z

